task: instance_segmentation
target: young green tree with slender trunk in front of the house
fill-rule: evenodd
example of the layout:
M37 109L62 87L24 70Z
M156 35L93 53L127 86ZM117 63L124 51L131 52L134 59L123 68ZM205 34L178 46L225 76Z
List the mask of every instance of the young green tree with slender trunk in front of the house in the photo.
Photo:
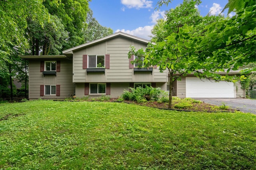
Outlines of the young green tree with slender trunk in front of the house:
M160 31L154 30L156 31L154 37L157 40L156 44L149 44L146 51L143 51L143 49L136 51L134 47L131 47L128 53L129 57L131 55L136 55L138 58L144 57L145 67L157 65L160 71L168 69L170 73L169 108L172 107L172 83L180 79L182 75L196 71L200 76L210 78L209 75L198 72L202 69L200 65L202 61L200 63L195 62L198 54L190 53L188 55L188 50L196 49L196 45L191 43L189 38L198 36L205 25L210 24L213 20L220 20L222 17L200 16L197 8L195 8L195 5L198 4L200 4L199 0L184 0L183 4L171 9L166 13L166 22L161 23L164 28L159 27ZM162 21L160 20L160 22ZM157 24L157 26L159 25ZM142 59L134 60L134 62L140 61ZM175 73L179 74L174 76ZM212 75L212 77L214 76Z

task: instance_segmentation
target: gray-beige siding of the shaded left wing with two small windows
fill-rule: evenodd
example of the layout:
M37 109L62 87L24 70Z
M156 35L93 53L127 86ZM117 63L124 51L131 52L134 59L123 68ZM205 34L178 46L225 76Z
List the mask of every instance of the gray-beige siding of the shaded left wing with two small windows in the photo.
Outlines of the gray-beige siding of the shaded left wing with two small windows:
M50 59L51 61L54 59ZM60 85L60 96L40 96L40 85ZM29 61L29 99L64 99L72 97L75 92L72 83L72 61L63 59L60 61L60 72L55 75L43 75L40 72L40 61Z

